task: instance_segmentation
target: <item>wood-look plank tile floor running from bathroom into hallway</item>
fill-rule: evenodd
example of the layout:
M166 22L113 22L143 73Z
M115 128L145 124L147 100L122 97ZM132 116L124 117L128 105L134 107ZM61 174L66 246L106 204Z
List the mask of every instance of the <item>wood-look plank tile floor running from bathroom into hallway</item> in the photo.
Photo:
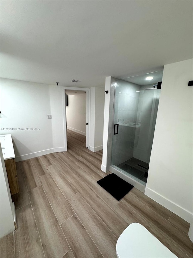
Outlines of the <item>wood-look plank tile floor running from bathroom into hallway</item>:
M118 237L138 222L176 256L191 258L189 224L135 188L117 201L96 183L106 176L101 163L102 151L91 152L69 130L67 152L17 162L17 230L0 239L0 256L116 258Z

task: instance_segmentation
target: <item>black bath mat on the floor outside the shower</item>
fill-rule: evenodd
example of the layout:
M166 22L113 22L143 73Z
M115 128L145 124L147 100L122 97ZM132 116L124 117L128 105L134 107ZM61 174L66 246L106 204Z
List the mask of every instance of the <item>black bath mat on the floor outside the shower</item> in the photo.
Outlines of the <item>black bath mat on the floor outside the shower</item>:
M125 182L113 173L100 179L97 183L118 201L120 201L121 198L123 198L133 188L133 185Z

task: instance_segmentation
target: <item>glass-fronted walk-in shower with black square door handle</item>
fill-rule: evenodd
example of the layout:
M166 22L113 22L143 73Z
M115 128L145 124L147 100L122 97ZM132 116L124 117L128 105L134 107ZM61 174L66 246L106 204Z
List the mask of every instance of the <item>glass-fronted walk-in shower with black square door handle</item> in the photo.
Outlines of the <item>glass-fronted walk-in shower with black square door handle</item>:
M147 182L162 74L159 71L115 82L111 166L143 185ZM145 81L147 76L153 81Z

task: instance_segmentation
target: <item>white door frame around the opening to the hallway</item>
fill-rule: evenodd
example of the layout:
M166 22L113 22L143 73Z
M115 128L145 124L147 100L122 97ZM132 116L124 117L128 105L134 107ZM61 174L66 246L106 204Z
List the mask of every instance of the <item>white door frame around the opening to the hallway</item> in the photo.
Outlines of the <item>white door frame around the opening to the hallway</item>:
M90 88L79 88L79 87L64 87L64 93L66 90L75 90L75 91L86 91L86 147L90 147ZM66 99L64 100L64 119L66 120ZM67 124L65 123L64 127L64 142L67 146ZM67 150L67 149L66 149Z

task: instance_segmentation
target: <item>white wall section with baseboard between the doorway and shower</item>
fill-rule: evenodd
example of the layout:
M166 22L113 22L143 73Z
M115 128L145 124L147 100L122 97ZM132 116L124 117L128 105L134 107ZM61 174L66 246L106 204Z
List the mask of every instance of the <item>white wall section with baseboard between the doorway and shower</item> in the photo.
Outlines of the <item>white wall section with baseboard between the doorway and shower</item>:
M105 88L90 88L90 147L93 152L103 149Z

